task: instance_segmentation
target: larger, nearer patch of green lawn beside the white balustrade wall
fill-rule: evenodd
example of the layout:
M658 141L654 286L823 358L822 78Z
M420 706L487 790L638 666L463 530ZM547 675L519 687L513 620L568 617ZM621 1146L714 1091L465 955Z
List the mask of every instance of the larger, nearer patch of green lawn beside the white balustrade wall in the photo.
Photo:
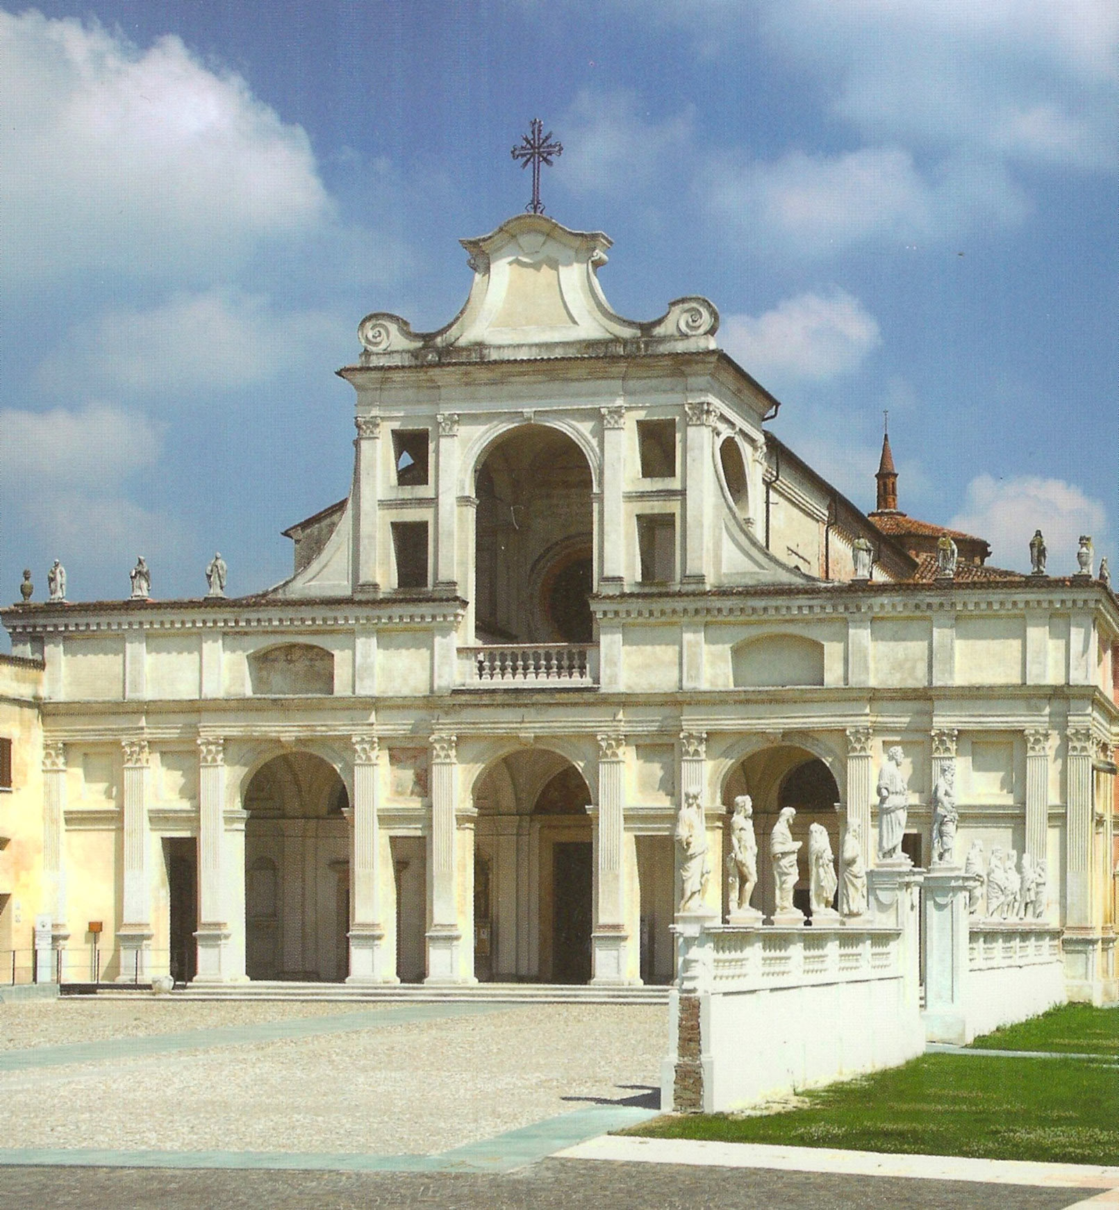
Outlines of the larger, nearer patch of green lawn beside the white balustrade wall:
M1119 1014L1112 1015L1119 1024ZM1071 1048L1085 1049L1080 1042ZM1056 1047L1046 1041L1042 1049ZM1119 1070L1092 1060L923 1055L904 1067L804 1093L802 1101L808 1104L765 1116L662 1117L625 1133L1119 1164Z

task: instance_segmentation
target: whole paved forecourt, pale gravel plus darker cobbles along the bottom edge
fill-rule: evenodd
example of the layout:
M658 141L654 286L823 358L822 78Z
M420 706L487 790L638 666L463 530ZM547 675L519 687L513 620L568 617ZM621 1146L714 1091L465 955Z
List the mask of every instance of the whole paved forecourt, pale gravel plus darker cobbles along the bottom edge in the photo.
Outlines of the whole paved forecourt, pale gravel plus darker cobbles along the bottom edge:
M663 1030L662 1006L0 1004L0 1210L1057 1210L1098 1195L549 1158L653 1114Z

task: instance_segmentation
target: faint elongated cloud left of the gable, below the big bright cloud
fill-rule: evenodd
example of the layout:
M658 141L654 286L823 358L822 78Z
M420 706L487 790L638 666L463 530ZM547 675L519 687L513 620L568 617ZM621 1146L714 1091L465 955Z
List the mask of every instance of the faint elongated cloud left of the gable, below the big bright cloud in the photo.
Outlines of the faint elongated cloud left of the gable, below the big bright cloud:
M40 382L184 396L235 391L287 373L339 342L351 325L319 312L277 311L263 295L214 288L146 311L105 312L73 330ZM75 363L73 351L83 347Z

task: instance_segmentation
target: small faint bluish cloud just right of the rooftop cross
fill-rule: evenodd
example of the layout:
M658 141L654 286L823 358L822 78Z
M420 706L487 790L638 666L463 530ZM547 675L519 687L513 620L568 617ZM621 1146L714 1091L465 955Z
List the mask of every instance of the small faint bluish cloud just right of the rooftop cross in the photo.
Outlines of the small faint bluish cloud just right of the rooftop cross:
M693 125L691 108L657 122L633 92L584 88L564 116L556 172L575 192L621 196L647 185L665 160L687 151Z

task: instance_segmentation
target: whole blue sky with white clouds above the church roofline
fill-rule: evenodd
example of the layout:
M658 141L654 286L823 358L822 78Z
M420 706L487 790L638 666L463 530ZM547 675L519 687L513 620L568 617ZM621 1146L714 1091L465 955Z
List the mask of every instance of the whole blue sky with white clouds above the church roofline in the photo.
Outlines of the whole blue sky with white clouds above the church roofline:
M200 595L290 570L344 496L369 311L437 327L463 236L548 213L600 281L681 294L873 507L1050 570L1115 563L1119 6L1111 0L133 0L0 8L0 575ZM1117 567L1119 570L1119 567Z

